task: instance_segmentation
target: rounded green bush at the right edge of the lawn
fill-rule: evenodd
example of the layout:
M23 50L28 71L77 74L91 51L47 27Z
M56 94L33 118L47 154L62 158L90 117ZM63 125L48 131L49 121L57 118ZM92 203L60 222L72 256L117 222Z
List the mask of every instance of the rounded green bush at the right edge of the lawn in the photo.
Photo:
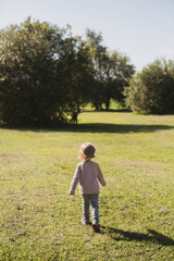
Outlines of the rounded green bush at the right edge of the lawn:
M130 79L126 104L145 114L174 113L174 62L157 60Z

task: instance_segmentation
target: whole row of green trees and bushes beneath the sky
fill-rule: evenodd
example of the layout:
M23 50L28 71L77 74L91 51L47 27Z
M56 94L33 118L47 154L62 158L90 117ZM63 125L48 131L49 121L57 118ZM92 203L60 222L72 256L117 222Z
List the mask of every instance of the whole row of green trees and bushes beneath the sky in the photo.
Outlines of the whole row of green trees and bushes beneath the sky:
M90 29L83 39L70 26L28 17L0 30L0 120L9 125L65 123L88 102L109 110L111 99L141 113L174 112L173 101L157 109L161 94L165 101L174 96L173 79L172 61L156 61L135 74L129 58L109 51L101 34Z

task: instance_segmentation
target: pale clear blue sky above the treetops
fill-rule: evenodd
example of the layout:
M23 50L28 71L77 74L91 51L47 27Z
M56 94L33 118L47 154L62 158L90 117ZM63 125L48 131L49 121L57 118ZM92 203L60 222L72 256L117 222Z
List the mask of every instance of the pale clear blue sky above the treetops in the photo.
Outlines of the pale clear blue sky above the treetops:
M174 0L0 0L0 29L33 21L101 33L109 51L129 57L137 71L174 60Z

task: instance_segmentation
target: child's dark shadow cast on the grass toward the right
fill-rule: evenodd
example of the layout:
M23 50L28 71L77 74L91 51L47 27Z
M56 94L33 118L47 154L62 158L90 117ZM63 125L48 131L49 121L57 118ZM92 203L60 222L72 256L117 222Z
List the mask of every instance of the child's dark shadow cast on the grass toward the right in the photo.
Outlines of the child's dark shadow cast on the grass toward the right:
M115 241L151 241L162 246L174 246L174 240L167 236L162 235L154 229L148 229L148 234L127 232L108 226L101 226L105 234L109 234Z

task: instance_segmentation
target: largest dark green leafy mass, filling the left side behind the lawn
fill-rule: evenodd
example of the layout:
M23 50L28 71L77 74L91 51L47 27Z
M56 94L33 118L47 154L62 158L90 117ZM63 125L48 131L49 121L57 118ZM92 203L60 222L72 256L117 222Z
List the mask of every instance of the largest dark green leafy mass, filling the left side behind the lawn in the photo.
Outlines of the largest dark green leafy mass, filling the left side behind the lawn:
M26 20L0 35L0 111L3 122L65 122L84 102L92 75L88 49L69 28ZM87 100L86 95L86 100Z

